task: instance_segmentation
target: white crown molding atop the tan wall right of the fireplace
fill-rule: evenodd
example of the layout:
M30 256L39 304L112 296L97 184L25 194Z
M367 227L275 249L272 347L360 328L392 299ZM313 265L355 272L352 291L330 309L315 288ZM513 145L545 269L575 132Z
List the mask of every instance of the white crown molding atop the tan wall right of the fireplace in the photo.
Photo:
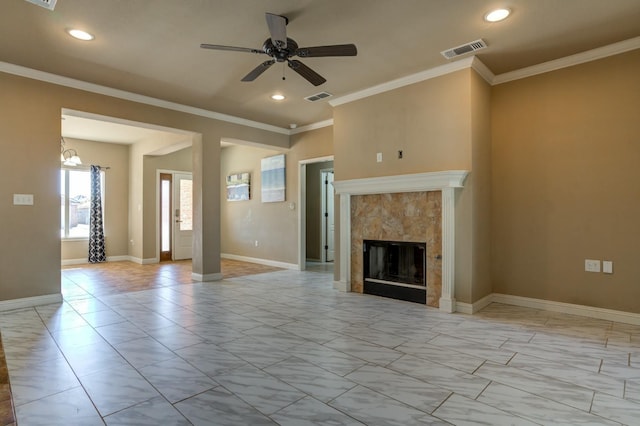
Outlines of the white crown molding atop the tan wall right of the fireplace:
M509 81L533 77L534 75L544 74L562 68L584 64L586 62L596 61L598 59L618 55L620 53L629 52L635 49L640 49L640 37L630 38L628 40L610 44L608 46L598 47L596 49L576 53L575 55L566 56L564 58L555 59L553 61L543 62L542 64L533 65L503 74L498 74L493 79L492 85L495 86L498 84L507 83Z

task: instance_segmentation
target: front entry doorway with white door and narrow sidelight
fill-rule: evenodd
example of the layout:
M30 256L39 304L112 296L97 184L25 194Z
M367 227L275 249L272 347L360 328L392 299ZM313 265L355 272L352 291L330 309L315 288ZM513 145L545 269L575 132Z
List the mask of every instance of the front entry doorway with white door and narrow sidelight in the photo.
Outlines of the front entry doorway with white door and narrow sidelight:
M160 261L192 257L193 177L191 173L159 173Z

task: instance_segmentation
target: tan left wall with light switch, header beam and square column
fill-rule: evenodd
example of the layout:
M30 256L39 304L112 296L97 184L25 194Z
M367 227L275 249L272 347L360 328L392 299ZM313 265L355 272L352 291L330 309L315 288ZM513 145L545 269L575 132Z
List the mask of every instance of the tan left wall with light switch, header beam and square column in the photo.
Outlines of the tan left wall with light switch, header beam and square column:
M219 272L220 140L288 147L281 133L249 128L82 90L0 73L0 300L60 293L59 168L63 108L192 131L194 142L194 271ZM198 136L201 135L201 136ZM133 178L132 178L133 179ZM34 206L13 206L13 194L33 194ZM135 205L133 205L135 208ZM130 209L130 210L133 210ZM131 230L133 232L135 230ZM131 253L130 253L131 254ZM142 255L142 251L140 251Z

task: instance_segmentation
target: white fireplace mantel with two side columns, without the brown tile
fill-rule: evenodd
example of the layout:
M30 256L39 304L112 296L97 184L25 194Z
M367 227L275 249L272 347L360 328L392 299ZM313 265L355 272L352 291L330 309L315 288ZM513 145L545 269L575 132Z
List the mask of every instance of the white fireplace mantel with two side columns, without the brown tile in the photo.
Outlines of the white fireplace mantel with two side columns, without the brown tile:
M416 173L334 181L340 195L340 281L336 288L351 291L351 196L397 192L442 191L442 297L440 310L456 311L455 301L455 189L462 188L465 170Z

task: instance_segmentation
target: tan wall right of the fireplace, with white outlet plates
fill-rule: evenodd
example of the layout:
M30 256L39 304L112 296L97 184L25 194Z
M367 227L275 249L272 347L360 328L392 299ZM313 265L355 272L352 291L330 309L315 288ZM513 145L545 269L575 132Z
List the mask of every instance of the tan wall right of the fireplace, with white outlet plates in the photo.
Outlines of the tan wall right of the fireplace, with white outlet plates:
M638 70L635 50L493 88L494 292L640 313Z

